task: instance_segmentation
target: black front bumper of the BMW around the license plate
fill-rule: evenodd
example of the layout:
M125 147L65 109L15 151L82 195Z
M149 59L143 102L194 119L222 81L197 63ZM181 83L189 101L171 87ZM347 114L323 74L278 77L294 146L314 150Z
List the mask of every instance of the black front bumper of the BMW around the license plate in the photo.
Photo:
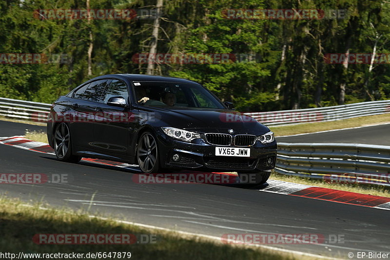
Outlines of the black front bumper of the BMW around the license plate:
M199 168L202 170L224 171L261 171L271 170L275 167L276 141L263 145L256 141L250 148L250 157L215 156L215 147L206 143L203 139L195 139L192 142L175 140L165 134L160 134L160 160L165 168ZM234 145L224 146L236 147ZM174 155L179 155L179 160L173 160Z

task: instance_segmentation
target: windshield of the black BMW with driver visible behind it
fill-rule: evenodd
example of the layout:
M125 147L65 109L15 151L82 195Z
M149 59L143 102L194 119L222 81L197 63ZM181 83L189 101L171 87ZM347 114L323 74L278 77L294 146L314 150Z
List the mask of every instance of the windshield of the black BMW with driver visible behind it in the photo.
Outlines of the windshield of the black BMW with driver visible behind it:
M139 104L147 106L225 109L222 103L199 84L176 82L133 82Z

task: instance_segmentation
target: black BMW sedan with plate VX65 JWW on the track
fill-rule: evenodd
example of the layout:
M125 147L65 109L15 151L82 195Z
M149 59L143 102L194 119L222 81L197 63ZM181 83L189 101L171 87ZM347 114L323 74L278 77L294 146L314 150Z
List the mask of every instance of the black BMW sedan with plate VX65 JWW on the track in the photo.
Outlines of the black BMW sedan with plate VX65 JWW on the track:
M116 74L88 80L52 105L49 144L58 160L82 157L167 169L251 173L268 180L276 141L270 129L185 79Z

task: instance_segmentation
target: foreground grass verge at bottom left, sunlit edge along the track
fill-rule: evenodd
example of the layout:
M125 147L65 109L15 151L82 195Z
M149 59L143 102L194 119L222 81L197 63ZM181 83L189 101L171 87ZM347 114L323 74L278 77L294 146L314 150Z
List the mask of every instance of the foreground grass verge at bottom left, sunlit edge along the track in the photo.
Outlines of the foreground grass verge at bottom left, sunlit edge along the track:
M215 240L183 237L175 232L145 229L114 219L90 218L85 212L67 209L41 208L40 204L26 206L20 200L0 197L0 251L24 253L88 253L131 252L137 260L293 260L290 253L273 252L256 247L232 246ZM156 243L127 245L39 245L35 234L153 234ZM33 258L31 258L33 259ZM99 259L99 258L97 258ZM302 259L299 256L299 259ZM303 259L309 259L304 257Z

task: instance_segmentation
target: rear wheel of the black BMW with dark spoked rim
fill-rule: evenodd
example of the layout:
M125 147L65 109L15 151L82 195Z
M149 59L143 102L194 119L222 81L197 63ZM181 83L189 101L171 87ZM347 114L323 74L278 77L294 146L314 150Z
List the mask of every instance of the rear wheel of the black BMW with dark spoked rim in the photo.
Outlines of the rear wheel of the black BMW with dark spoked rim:
M54 152L57 160L78 163L81 157L72 154L72 142L69 127L66 123L57 125L53 137Z

